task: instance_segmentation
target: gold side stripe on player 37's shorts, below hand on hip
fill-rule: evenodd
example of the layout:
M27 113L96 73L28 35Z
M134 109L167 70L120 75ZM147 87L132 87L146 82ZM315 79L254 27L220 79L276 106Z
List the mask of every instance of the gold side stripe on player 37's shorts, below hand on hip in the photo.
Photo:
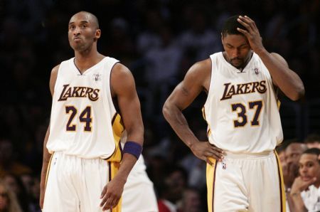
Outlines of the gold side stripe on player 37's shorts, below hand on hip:
M213 165L207 163L206 179L207 179L207 199L208 199L208 212L213 212L214 196L215 196L215 172L217 170L217 160L209 158Z

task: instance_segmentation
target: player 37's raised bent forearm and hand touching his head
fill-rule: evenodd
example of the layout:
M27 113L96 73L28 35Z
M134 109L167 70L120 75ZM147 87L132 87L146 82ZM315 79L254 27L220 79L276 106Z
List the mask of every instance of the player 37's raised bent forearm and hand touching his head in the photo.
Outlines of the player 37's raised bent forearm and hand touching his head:
M304 84L299 75L289 68L286 60L281 55L269 53L265 49L255 21L252 21L248 16L239 16L238 22L247 28L247 30L238 28L238 31L247 37L252 51L260 56L272 76L272 83L280 88L284 95L287 95L291 100L299 100L304 96Z

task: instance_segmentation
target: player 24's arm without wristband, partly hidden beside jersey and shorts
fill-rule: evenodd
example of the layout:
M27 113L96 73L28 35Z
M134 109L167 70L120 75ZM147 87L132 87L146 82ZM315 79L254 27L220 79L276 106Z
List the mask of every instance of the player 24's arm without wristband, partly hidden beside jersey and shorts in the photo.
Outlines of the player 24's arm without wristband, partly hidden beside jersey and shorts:
M59 66L55 66L53 70L51 71L50 75L50 92L51 96L53 96L54 88L55 88L55 81L57 80L57 75L58 75L58 70ZM47 170L48 170L48 164L50 161L51 154L48 152L47 149L47 142L48 142L48 137L50 134L50 124L48 126L47 132L46 132L46 137L43 141L43 162L42 162L42 169L41 169L41 181L40 181L40 208L43 208L43 200L44 200L44 194L46 191L46 175L47 175Z

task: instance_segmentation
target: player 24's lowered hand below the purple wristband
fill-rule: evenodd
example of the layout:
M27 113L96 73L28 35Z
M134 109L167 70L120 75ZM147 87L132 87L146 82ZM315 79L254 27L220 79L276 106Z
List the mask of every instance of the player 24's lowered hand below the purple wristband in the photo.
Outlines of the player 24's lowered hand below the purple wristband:
M107 185L105 185L100 196L102 199L100 203L102 211L107 211L110 208L117 206L122 196L124 183L124 181L121 181L115 177Z

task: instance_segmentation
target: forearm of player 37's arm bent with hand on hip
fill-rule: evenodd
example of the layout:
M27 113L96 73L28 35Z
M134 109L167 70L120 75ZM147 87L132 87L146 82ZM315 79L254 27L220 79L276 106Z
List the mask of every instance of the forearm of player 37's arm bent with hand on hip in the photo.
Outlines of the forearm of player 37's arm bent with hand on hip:
M198 142L198 139L191 131L186 117L184 117L181 110L170 102L166 102L163 113L164 118L169 122L174 132L176 132L178 137L191 149L193 144Z

